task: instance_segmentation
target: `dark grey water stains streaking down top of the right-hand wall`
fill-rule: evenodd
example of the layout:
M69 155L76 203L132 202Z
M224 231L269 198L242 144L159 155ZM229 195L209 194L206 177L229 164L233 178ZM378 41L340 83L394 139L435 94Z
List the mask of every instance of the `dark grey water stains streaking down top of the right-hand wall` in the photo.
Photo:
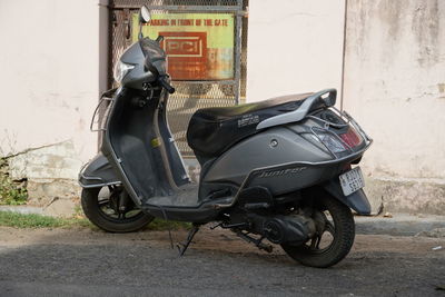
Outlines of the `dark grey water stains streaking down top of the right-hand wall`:
M384 62L400 51L413 52L413 59L425 68L441 59L441 18L445 9L443 0L379 0L348 2L348 42L358 57L365 53L378 37L386 48L380 49ZM376 33L376 28L382 30Z

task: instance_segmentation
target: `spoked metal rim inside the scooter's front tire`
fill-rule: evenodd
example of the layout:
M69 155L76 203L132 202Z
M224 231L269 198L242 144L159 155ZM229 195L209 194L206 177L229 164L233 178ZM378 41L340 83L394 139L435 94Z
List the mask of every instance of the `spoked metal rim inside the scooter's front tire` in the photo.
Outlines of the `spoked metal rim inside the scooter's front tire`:
M144 216L140 209L135 208L135 204L129 197L126 209L119 210L118 205L119 199L122 199L121 195L128 195L121 187L109 186L100 189L98 194L98 206L101 217L115 222L125 222Z

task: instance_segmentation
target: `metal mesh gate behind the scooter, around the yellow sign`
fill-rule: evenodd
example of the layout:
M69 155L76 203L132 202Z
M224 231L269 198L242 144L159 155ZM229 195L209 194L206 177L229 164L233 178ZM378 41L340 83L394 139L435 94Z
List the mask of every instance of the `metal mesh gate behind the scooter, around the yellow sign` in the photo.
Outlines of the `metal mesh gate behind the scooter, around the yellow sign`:
M200 108L234 106L246 97L247 7L248 0L112 0L110 8L109 69L113 69L122 51L131 44L131 16L146 4L156 13L233 13L234 79L212 81L172 81L168 117L171 132L184 157L192 157L186 132L192 113ZM109 71L109 87L113 87Z

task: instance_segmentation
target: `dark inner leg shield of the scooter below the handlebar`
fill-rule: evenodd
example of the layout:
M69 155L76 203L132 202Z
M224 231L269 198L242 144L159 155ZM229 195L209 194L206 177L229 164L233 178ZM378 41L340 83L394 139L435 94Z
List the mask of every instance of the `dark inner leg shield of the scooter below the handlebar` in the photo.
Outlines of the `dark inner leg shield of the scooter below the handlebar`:
M159 95L141 108L132 103L144 96L132 89L118 91L101 148L137 205L172 191L152 129Z

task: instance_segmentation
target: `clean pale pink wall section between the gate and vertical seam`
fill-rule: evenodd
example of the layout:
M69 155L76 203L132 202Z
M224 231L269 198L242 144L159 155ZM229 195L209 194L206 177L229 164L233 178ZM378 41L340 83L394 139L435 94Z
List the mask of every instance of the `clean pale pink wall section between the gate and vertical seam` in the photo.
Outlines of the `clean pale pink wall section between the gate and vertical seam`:
M344 0L249 1L247 102L340 89Z

